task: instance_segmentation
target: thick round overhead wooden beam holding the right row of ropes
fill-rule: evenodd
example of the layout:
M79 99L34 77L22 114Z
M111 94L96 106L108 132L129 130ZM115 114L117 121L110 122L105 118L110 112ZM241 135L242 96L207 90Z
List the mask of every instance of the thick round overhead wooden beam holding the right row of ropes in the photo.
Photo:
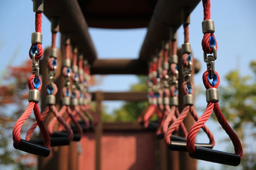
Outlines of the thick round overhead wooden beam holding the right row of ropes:
M150 60L151 54L161 48L161 41L169 39L170 27L178 29L182 24L181 8L189 7L192 12L199 2L200 0L158 0L148 25L139 59L144 62Z

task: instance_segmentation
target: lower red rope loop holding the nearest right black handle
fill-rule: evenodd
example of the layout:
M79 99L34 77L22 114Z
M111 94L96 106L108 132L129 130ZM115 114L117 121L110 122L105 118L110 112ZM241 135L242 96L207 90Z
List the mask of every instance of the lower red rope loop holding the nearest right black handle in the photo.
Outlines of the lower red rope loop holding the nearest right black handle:
M220 84L220 77L218 73L215 71L215 74L217 75L217 83L212 86L211 83L208 81L208 74L210 71L205 71L203 74L203 83L206 89L210 88L218 88ZM226 133L229 135L233 146L235 150L235 154L239 155L240 158L242 159L243 156L243 148L241 145L241 142L235 132L232 130L230 127L229 123L223 116L219 104L218 103L213 103L213 102L208 102L207 107L203 113L203 115L197 120L197 122L191 127L189 133L188 133L188 138L187 138L187 148L190 154L194 154L196 151L195 147L195 138L196 134L198 133L199 129L204 126L204 123L210 118L212 111L214 111L217 120L219 121L220 125L222 128L226 131Z

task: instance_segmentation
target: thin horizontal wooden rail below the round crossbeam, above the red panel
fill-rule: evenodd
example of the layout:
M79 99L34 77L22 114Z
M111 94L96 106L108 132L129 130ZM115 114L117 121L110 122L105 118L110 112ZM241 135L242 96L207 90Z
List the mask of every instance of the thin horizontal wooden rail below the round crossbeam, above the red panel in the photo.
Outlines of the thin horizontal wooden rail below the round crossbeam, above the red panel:
M92 92L95 100L95 92ZM103 92L103 100L146 101L148 92Z

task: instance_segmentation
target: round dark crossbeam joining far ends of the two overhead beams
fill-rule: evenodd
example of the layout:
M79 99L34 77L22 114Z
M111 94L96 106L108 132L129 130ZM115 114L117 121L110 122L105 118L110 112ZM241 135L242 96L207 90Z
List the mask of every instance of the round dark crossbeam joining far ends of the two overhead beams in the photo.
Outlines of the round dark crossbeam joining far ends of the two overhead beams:
M91 74L136 74L147 75L147 63L136 59L101 59L95 60Z

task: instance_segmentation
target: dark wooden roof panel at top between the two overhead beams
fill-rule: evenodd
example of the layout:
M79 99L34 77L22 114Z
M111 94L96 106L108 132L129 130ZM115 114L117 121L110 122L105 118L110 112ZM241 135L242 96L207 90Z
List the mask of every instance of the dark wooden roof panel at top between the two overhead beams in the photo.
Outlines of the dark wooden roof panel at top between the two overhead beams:
M89 27L147 27L157 0L78 0Z

